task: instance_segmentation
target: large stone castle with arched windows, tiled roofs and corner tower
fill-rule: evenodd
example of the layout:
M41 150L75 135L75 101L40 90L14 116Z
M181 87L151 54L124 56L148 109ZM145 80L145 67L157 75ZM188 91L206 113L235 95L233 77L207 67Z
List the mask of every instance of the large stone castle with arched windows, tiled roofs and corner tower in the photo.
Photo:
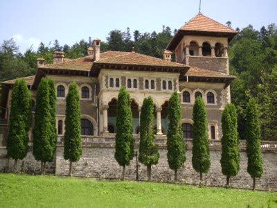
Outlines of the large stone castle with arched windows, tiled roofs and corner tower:
M209 139L211 144L219 144L217 141L222 137L221 115L225 105L231 101L230 84L235 79L229 74L227 49L236 33L232 28L198 13L179 28L163 52L163 59L136 53L134 50L100 53L101 43L98 39L93 40L93 46L87 49L87 56L82 58L69 60L64 58L63 52L55 52L53 64L44 64L44 59L37 59L36 75L22 79L26 80L30 89L34 112L39 80L46 77L55 81L59 142L55 162L49 168L52 167L52 172L56 174L66 174L67 171L66 162L62 158L62 136L65 97L69 83L73 81L80 89L81 135L84 149L80 162L82 168L79 168L77 175L99 177L107 173L107 177L116 177L116 171L111 173L113 171L108 171L107 168L111 167L111 164L116 166L114 150L111 148L114 146L116 133L116 100L121 86L126 87L132 100L133 134L136 139L139 139L139 114L143 99L151 96L155 107L155 133L161 151L163 150L168 126L168 100L172 92L177 90L181 97L184 139L189 142L193 136L193 104L197 96L202 96L208 114ZM172 52L175 53L175 60L171 58ZM7 120L13 83L15 80L2 83L2 109ZM3 123L0 137L2 147L6 146L5 127L6 123ZM4 148L2 152L4 154ZM28 154L24 166L36 166L32 157L32 153ZM213 159L213 156L211 158ZM101 162L106 164L100 165ZM4 165L0 162L0 168L1 166L3 168ZM84 171L84 168L87 168L87 171ZM91 171L92 169L96 172ZM220 173L220 170L217 172ZM277 183L276 177L275 182Z

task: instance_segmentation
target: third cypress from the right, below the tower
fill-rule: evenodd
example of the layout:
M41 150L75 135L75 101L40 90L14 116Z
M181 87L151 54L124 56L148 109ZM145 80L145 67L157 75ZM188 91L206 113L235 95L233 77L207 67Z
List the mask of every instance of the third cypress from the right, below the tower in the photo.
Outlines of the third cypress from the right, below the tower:
M208 173L211 166L210 151L208 148L207 113L202 97L198 96L193 105L193 168L200 173Z

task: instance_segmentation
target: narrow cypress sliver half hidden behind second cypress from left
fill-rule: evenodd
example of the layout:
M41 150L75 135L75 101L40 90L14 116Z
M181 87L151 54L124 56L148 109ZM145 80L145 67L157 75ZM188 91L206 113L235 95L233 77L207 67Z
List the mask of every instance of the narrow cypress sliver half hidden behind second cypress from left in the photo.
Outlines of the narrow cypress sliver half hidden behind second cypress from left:
M56 129L56 91L54 80L48 79L49 86L49 105L51 114L51 146L53 150L53 157L55 155L56 144L57 144L57 129ZM53 157L49 162L53 161Z

